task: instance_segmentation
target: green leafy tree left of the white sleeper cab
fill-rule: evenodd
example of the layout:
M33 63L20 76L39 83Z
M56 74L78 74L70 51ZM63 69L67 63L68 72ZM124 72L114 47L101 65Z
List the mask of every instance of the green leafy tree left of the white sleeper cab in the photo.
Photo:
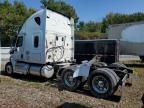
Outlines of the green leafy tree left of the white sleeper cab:
M2 46L9 46L15 40L18 28L35 10L27 8L22 2L8 0L0 2L0 40Z

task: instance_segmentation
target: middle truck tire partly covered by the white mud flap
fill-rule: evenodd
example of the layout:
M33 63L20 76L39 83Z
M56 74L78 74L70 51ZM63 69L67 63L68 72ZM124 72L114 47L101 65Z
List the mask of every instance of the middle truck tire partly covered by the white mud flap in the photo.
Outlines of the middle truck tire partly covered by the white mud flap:
M75 91L81 83L80 78L73 78L73 73L72 69L65 69L61 76L64 88L69 91Z

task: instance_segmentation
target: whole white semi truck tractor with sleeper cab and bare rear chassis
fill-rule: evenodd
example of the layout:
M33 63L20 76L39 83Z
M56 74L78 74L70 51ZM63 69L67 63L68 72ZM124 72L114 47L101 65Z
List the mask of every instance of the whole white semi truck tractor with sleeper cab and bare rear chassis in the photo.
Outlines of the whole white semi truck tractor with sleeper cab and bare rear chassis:
M96 97L111 96L133 72L120 63L100 63L95 55L91 60L77 64L74 60L77 47L74 46L74 20L42 9L21 27L5 71L9 75L32 74L46 78L56 75L70 91L88 82Z

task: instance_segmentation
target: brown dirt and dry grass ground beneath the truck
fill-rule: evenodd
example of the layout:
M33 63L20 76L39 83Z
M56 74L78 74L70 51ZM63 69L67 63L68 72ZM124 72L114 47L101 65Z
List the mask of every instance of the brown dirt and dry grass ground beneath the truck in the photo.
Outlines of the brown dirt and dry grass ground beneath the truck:
M87 90L59 91L55 80L33 76L0 76L0 108L141 108L144 68L134 68L133 85L109 99L97 99ZM121 96L122 95L122 96Z

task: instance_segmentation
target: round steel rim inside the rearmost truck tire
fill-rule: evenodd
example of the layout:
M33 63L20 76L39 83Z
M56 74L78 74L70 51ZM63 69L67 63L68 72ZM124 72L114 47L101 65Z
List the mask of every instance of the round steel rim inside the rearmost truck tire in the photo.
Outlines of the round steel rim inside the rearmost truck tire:
M92 80L92 87L97 93L104 94L109 90L109 82L104 76L94 76Z

